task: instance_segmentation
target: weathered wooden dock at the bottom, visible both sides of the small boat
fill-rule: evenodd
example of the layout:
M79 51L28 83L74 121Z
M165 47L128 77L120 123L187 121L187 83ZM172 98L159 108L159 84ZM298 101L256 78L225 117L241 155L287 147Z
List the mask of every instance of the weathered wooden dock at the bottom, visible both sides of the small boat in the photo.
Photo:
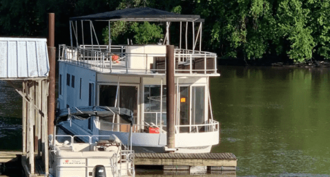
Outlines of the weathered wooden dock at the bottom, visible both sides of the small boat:
M1 151L0 162L19 160L21 152ZM26 156L21 158L24 171L28 172ZM189 170L191 167L204 166L208 170L235 170L237 158L233 153L135 153L135 165L161 165L166 170ZM35 171L44 175L41 160L36 160ZM39 176L37 175L37 176Z

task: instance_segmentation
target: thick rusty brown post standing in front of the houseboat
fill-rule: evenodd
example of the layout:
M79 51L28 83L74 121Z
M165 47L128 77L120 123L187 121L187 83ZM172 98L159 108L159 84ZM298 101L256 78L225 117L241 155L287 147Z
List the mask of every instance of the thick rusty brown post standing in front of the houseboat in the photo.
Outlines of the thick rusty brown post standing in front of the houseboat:
M166 124L167 148L173 153L175 150L175 83L174 83L174 46L166 46Z

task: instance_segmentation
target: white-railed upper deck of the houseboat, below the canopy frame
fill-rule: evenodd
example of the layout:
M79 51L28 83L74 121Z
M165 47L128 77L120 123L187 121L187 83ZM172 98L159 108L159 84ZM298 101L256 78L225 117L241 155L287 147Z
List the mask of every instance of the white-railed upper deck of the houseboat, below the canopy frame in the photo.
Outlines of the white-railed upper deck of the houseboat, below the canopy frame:
M166 75L166 45L59 46L59 62L115 75ZM219 76L217 55L204 51L175 49L176 76Z

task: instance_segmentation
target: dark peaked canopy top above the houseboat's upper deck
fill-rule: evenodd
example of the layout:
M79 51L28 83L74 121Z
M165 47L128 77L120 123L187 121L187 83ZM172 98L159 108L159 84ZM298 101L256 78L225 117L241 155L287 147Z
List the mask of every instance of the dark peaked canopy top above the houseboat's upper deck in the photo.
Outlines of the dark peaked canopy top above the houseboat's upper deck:
M110 20L110 21L197 21L200 15L179 15L155 8L126 8L95 15L72 17L70 21L77 20ZM200 19L202 20L202 19ZM200 21L199 20L199 21Z

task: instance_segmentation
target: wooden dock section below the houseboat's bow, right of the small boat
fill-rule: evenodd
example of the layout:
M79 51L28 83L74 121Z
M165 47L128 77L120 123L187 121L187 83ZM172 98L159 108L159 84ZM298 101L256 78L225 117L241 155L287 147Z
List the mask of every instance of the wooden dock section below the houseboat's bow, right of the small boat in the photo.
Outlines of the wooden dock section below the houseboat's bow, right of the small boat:
M135 153L135 165L162 165L164 169L204 166L211 170L235 170L233 153Z

